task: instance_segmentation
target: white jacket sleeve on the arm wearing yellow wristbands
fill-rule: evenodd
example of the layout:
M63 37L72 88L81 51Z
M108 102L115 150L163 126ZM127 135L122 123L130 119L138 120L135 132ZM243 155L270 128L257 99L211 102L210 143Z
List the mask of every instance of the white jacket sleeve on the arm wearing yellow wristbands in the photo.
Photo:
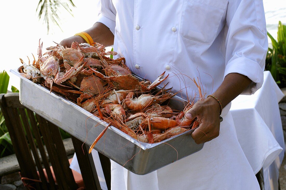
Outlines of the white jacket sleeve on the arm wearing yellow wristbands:
M97 22L106 25L114 35L116 9L112 3L112 0L100 0L98 2L98 7L100 7L100 9Z

